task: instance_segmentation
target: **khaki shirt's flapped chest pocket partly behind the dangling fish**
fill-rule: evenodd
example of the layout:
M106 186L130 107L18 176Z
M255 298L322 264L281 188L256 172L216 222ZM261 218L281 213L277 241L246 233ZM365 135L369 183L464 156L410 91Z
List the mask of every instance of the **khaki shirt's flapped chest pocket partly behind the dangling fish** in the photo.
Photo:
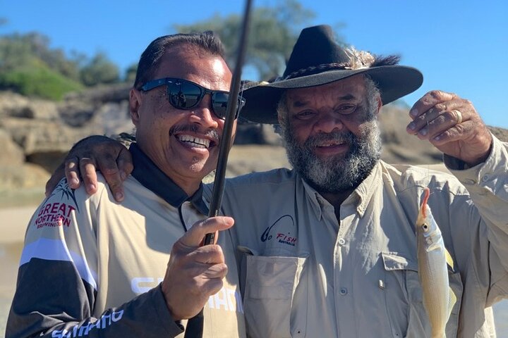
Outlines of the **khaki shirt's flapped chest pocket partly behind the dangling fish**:
M416 259L394 252L381 255L385 266L386 310L394 336L430 337ZM463 286L459 273L449 270L448 280L457 301L448 319L446 334L456 337Z

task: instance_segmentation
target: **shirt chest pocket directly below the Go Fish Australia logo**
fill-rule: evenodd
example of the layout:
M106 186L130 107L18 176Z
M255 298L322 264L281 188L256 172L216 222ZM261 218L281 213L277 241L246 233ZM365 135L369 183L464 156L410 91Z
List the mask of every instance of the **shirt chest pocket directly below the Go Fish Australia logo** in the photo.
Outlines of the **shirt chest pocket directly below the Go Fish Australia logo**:
M250 337L291 337L291 305L305 262L300 257L246 256L243 307Z

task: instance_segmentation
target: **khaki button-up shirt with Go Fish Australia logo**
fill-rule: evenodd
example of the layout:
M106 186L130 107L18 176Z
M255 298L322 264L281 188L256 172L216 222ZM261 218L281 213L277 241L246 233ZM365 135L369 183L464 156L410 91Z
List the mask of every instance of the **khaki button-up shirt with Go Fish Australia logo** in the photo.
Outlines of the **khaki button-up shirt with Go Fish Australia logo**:
M461 163L445 158L448 168ZM454 163L456 162L456 163ZM463 163L462 163L463 164ZM423 188L454 259L447 337L495 337L508 294L508 144L453 175L380 162L334 208L294 171L227 180L251 337L430 337L415 221Z

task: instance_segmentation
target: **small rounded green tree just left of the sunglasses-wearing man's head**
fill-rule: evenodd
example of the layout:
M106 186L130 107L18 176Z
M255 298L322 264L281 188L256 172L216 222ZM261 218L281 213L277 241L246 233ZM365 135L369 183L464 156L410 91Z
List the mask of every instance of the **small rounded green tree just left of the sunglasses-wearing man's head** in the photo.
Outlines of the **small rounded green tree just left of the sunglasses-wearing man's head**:
M120 72L118 66L109 61L106 54L99 52L81 68L80 79L86 86L112 84L119 82Z

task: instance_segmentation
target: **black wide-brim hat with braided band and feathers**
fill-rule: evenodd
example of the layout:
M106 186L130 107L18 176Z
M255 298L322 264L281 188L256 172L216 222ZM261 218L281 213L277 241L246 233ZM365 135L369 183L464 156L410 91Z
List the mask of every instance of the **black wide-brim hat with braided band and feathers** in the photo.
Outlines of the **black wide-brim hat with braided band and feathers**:
M423 82L416 68L377 62L364 51L345 49L335 42L328 25L308 27L301 31L282 78L243 90L246 105L241 116L258 123L278 123L277 104L285 89L319 86L357 74L368 75L377 84L382 104L414 92Z

